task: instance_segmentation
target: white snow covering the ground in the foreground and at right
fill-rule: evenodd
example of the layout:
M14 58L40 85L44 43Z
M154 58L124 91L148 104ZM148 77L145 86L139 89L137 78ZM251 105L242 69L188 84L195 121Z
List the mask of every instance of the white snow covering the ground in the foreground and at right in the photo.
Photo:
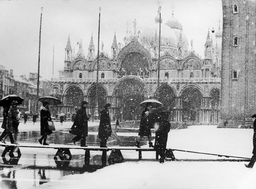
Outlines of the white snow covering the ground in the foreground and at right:
M171 130L167 147L251 157L252 134L252 129L217 129L211 125L189 126L188 129ZM244 163L248 162L214 161L231 158L174 151L175 157L183 161L167 161L160 164L154 160L154 152L142 152L140 161L137 161L138 152L124 150L122 153L126 159L124 163L110 165L93 173L64 176L60 179L61 184L49 182L36 188L256 188L256 168L246 168Z

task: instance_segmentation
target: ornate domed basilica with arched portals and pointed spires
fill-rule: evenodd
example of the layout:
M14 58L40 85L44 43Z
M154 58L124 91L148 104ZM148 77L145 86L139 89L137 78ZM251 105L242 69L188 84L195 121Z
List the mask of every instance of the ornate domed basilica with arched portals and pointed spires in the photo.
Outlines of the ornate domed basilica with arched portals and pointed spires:
M170 17L161 24L160 85L157 80L158 14L150 26L141 30L137 30L135 19L133 31L128 31L127 27L122 43L116 41L115 33L110 56L102 48L98 103L97 50L93 38L86 56L82 42L75 54L68 36L64 70L59 71L59 78L52 78L51 82L52 95L63 102L56 111L72 113L81 101L86 100L89 102L88 115L97 117L108 102L112 120L116 117L139 120L140 102L157 99L171 110L170 121L217 123L220 116L220 26L215 32L216 42L213 42L209 31L205 34L204 58L200 58L193 50L192 40L191 49L188 48L186 34L173 12Z

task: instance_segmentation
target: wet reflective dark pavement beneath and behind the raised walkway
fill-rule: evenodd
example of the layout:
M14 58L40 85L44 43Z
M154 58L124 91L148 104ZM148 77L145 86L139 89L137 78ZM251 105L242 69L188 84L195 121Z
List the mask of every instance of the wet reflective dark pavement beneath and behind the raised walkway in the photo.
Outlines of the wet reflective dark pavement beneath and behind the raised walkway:
M68 131L68 129L54 131L47 138L47 142L50 144L73 144L72 138L74 135L69 134ZM118 136L120 143L114 138L109 137L107 143L108 146L134 146L138 129L117 128L116 131L134 132L136 134L134 134L135 136ZM90 127L89 132L98 132L98 127ZM38 143L40 137L40 132L38 131L19 132L18 141ZM141 143L144 145L146 142L147 140L145 137L145 141ZM89 133L89 136L86 137L86 144L90 146L99 146L100 140L98 135ZM77 143L77 145L79 145L79 143ZM0 147L1 154L3 151L4 147ZM39 152L26 152L25 149L22 149L21 158L10 158L7 154L0 159L1 189L23 189L41 185L45 182L60 182L58 179L65 175L93 172L102 168L101 154L91 155L90 166L84 168L84 151L82 150L80 155L72 155L70 162L60 161L57 164L53 159L53 153L45 154L44 152L40 152L40 150L36 151ZM65 163L67 164L65 165Z

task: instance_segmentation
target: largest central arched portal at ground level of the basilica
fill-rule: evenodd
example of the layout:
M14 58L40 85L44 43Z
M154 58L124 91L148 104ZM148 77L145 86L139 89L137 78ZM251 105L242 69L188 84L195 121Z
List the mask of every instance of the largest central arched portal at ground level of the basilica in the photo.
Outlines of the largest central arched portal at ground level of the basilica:
M147 94L148 90L142 79L136 76L122 78L113 91L113 95L120 101L116 109L116 117L123 120L139 120L142 111L139 105Z

